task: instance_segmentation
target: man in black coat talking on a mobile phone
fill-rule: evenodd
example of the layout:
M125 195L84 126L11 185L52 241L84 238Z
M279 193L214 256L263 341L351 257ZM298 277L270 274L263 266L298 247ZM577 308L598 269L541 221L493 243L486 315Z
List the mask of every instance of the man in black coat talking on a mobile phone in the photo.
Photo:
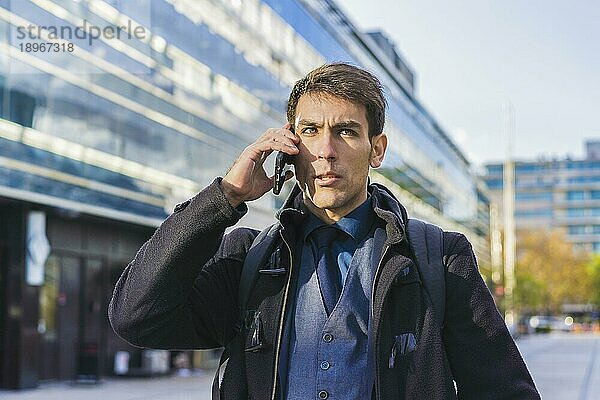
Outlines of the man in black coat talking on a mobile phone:
M348 64L319 67L294 86L287 119L142 246L115 288L115 331L145 347L225 346L223 399L539 398L458 233L443 236L437 323L406 210L368 185L387 147L379 81ZM273 151L293 157L297 185L241 310L242 266L258 232L224 231L271 190L263 163Z

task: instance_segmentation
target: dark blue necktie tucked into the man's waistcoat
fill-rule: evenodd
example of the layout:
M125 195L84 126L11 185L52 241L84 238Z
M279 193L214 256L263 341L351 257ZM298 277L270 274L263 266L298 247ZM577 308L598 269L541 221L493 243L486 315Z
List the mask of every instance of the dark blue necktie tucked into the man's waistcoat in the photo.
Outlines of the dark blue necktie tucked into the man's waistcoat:
M313 243L317 248L317 278L323 296L325 310L329 316L342 293L342 277L337 257L332 248L340 230L324 226L313 232Z

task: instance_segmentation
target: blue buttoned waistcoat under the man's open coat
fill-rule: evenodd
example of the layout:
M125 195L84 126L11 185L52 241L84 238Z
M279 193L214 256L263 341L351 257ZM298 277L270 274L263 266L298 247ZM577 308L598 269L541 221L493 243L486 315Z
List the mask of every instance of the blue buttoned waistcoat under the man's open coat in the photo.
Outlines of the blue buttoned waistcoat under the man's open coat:
M364 214L364 208L362 213L357 211ZM347 274L342 273L346 275L342 294L329 317L320 293L314 255L310 246L303 246L295 303L290 318L286 318L289 343L284 346L286 390L282 393L286 399L371 398L375 361L374 338L369 335L371 290L379 261L379 254L374 251L381 250L380 245L374 246L374 236L378 243L385 239L384 229L376 229L378 225L372 224L376 219L368 215L367 221L362 221L371 229L366 235L363 232ZM355 224L340 225L345 231L357 229ZM348 257L339 258L342 270L344 259L349 261Z

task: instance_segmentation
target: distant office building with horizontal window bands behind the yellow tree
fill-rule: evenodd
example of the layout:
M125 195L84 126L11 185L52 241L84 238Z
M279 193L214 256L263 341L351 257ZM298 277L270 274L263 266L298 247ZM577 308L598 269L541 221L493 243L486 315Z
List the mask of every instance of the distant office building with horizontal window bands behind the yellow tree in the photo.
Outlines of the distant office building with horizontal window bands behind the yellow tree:
M576 250L600 253L600 141L586 157L515 163L515 224L519 231L559 229ZM490 196L502 204L503 165L485 166Z

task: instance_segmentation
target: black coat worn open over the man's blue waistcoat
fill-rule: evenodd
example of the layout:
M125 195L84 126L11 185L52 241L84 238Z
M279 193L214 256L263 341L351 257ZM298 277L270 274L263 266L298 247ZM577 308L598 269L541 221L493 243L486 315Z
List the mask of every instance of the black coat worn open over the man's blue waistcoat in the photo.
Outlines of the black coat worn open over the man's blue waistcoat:
M220 179L176 208L138 251L117 282L109 306L115 332L131 344L160 349L228 346L224 399L279 396L276 366L284 310L295 283L295 211L298 189L278 214L285 275L261 275L248 308L260 312L263 347L246 352L238 288L243 260L258 231L237 228L247 211L234 209ZM539 394L493 299L464 235L444 233L446 311L443 330L413 263L404 233L407 215L379 185L370 185L376 214L385 220L387 251L375 277L373 323L377 399L538 399ZM296 266L297 267L297 266ZM406 273L409 267L409 273ZM402 274L399 274L403 271ZM416 349L389 357L396 335L411 332ZM455 391L456 384L456 391Z

